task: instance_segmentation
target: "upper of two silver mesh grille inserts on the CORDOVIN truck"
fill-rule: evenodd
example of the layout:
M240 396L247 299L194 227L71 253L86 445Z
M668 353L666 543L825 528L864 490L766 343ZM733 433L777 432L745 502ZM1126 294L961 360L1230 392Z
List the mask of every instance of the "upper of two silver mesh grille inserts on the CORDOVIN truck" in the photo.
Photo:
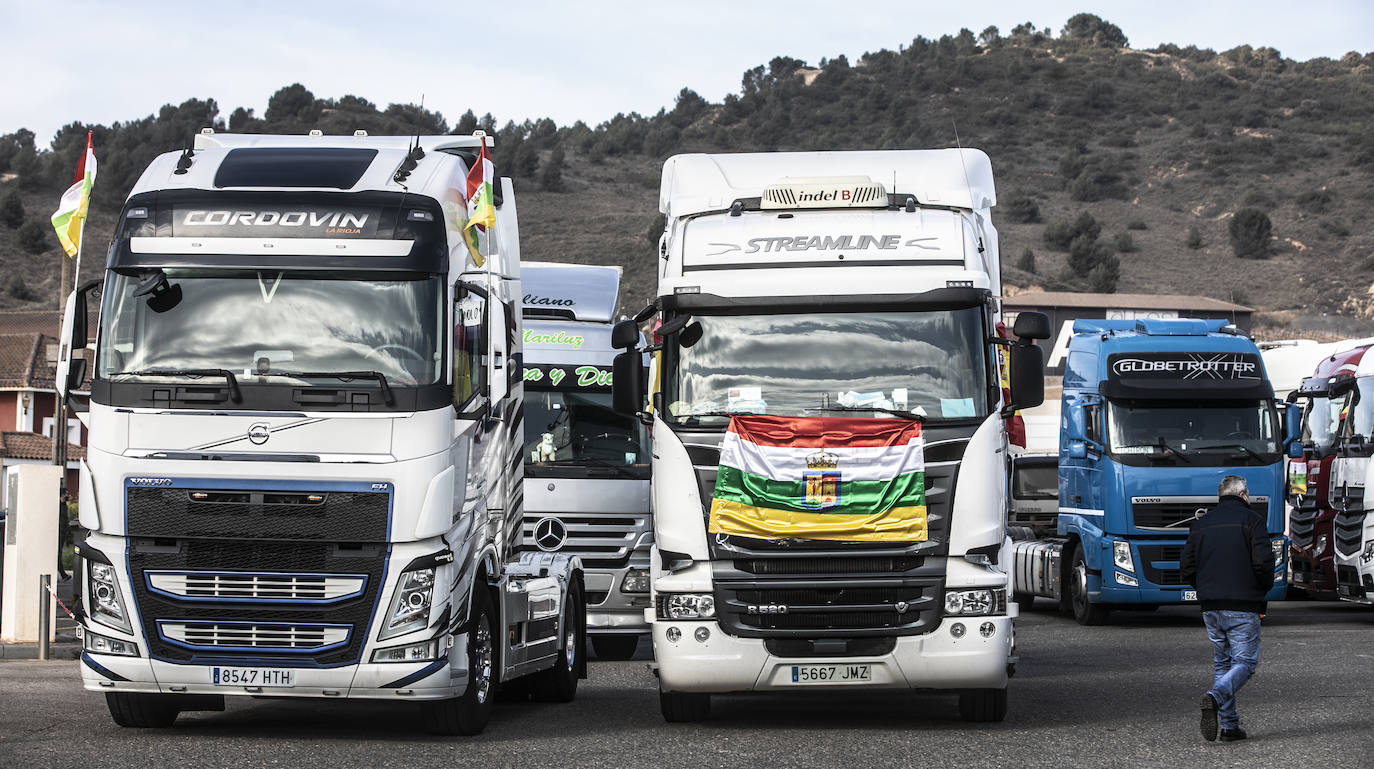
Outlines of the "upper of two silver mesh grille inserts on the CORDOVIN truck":
M365 574L250 574L242 571L146 571L148 588L187 600L334 603L361 595Z

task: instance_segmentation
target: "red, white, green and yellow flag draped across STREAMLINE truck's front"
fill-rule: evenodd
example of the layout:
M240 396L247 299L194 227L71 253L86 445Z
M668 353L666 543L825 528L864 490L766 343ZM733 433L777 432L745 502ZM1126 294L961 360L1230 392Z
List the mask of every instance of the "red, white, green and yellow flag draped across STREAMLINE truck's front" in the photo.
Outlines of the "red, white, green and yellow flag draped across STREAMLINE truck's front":
M735 416L708 530L760 540L923 542L921 423Z

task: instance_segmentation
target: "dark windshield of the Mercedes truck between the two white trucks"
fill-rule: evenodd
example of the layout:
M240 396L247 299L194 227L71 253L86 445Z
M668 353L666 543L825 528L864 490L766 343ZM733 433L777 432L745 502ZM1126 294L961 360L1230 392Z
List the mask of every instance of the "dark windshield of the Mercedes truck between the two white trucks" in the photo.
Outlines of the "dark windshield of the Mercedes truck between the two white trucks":
M611 411L610 393L525 390L525 472L530 477L649 477L647 431Z

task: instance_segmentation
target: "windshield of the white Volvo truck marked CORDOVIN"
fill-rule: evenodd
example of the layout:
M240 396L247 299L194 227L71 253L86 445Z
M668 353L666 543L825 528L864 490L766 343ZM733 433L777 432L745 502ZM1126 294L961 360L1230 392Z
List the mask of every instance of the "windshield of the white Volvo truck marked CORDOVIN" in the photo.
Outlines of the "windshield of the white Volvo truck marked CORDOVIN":
M106 280L98 376L367 371L403 387L442 376L444 290L437 276L191 269L165 275L162 295L180 291L180 301L135 295L148 277L143 273L115 272Z

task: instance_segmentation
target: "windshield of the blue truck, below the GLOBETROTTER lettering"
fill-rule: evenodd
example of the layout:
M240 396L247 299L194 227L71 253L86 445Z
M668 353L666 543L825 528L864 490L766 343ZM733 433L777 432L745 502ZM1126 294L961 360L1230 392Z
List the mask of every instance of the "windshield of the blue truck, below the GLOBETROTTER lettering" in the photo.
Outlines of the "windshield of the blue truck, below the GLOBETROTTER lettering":
M1268 401L1110 401L1107 449L1118 460L1234 466L1278 461Z

